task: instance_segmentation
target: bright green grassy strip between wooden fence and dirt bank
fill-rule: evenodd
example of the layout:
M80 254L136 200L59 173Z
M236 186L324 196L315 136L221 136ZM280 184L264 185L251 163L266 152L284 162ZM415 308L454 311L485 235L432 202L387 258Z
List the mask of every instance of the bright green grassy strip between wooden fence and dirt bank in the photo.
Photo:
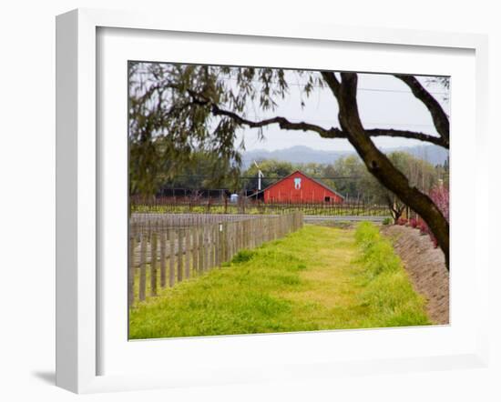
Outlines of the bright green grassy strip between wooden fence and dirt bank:
M304 226L130 312L129 338L430 324L375 226Z

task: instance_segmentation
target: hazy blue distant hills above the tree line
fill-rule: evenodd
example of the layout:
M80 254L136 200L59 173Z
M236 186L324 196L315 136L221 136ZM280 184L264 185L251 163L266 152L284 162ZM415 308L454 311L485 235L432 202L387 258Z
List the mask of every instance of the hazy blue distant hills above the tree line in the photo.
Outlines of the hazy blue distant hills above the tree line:
M449 156L448 150L441 146L400 146L396 148L383 149L385 154L395 151L408 152L409 154L424 159L432 165L443 165ZM259 159L277 159L291 162L293 164L332 164L336 159L343 156L356 155L355 151L322 151L312 149L308 146L291 146L290 148L268 151L266 149L255 149L244 152L242 161L244 168L251 165L252 161Z

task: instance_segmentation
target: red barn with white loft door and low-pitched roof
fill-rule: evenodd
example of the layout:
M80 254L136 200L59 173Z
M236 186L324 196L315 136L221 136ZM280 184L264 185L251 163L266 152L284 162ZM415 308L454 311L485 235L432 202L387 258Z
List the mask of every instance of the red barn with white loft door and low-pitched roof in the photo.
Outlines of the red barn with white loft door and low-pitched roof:
M343 196L296 170L264 190L265 203L342 203Z

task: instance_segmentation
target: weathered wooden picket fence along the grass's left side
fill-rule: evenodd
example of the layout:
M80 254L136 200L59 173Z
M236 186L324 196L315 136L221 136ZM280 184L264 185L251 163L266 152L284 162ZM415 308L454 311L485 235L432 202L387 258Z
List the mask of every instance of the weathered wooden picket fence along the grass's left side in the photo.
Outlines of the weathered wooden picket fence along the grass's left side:
M128 306L158 288L221 266L244 248L302 227L302 213L280 216L134 214L128 236Z

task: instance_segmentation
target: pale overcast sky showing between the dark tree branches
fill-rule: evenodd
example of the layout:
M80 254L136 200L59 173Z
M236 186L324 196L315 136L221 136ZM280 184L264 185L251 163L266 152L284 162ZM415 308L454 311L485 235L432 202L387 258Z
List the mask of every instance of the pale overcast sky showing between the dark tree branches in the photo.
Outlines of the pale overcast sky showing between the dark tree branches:
M448 89L429 82L429 77L417 77L435 99L450 115ZM295 84L294 84L295 82ZM300 90L302 83L291 81L290 94L279 102L278 108L268 114L256 114L252 110L247 117L260 120L270 116L284 116L291 121L306 121L325 128L339 127L338 106L329 88L315 87L312 95L305 99L301 107ZM393 75L359 74L358 79L359 112L365 128L395 128L423 132L438 136L430 113L421 101L416 99L409 87ZM349 151L353 147L345 139L322 138L316 133L283 130L278 125L267 126L260 140L257 129L241 129L238 142L244 140L247 151L266 148L270 151L291 146L308 146L313 149ZM373 138L380 148L399 146L423 146L424 143L406 138Z

